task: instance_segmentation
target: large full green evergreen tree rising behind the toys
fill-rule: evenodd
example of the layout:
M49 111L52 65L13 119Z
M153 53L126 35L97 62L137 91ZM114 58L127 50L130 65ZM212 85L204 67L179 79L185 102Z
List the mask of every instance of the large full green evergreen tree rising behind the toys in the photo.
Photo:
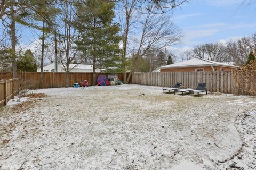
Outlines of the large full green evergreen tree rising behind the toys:
M81 40L79 50L90 55L93 61L93 85L96 68L122 67L118 35L119 25L113 22L115 4L107 0L87 0L78 7Z

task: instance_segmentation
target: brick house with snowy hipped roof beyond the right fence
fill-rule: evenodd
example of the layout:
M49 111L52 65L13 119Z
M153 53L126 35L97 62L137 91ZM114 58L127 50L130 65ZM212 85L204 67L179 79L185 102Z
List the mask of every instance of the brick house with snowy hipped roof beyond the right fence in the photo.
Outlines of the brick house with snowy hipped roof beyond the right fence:
M187 61L159 67L161 72L193 72L193 71L229 71L239 69L239 66L214 62L202 58L193 58Z

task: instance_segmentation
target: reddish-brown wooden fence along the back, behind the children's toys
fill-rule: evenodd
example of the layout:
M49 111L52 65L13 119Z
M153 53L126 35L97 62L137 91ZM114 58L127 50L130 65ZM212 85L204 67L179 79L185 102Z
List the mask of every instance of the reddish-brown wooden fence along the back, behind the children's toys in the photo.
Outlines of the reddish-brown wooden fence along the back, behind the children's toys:
M105 73L97 73L96 77L98 77L99 74L105 74ZM119 80L123 81L123 73L118 73L117 76ZM21 81L30 83L30 87L39 88L40 72L19 72L18 77L21 77ZM0 72L0 79L11 79L11 78L12 78L12 73ZM79 83L84 80L87 80L89 85L92 85L92 73L80 73L80 72L69 73L69 87L71 87L73 83L76 83L76 82ZM131 82L132 82L132 79L130 79L130 83ZM65 87L65 86L66 86L66 73L64 72L44 72L43 73L43 88L56 88L56 87Z

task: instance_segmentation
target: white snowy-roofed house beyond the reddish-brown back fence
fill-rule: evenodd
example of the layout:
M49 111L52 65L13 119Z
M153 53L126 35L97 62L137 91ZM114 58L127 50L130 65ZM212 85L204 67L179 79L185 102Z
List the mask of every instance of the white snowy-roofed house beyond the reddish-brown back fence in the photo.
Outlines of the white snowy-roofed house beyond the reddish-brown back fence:
M43 67L43 72L55 72L55 64L49 64ZM92 73L92 65L90 64L69 64L70 72L86 72ZM40 68L37 69L37 72L40 72ZM62 64L57 65L57 72L65 72L65 69ZM96 72L99 73L100 69L96 69Z

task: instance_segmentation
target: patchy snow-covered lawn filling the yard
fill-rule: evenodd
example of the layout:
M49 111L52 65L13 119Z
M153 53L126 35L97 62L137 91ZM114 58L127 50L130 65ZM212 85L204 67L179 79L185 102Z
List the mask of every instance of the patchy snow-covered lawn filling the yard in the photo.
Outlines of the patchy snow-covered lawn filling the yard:
M0 108L0 169L256 169L255 97L137 85L30 93L47 97Z

